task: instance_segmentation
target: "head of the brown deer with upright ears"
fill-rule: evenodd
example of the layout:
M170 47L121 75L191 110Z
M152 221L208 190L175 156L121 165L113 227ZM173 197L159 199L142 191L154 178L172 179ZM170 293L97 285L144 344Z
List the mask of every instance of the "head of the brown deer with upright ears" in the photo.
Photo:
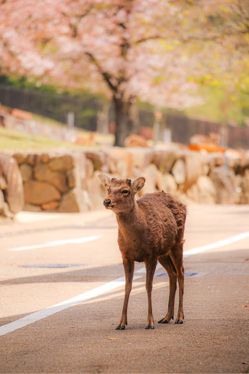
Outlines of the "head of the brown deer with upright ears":
M107 209L112 209L116 213L128 212L133 208L134 196L145 183L143 177L137 178L133 183L130 179L111 179L104 174L100 174L99 179L108 192L104 205Z

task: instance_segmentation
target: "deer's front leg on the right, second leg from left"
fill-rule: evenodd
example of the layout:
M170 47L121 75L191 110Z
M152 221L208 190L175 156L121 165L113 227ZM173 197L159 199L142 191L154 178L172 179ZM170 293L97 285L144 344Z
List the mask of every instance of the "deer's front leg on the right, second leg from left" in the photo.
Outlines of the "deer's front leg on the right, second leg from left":
M153 277L156 268L156 259L149 258L145 262L146 267L146 291L148 295L148 317L147 317L147 324L145 326L145 330L154 329L154 318L152 314L152 302L151 302L151 292L152 292L152 283Z

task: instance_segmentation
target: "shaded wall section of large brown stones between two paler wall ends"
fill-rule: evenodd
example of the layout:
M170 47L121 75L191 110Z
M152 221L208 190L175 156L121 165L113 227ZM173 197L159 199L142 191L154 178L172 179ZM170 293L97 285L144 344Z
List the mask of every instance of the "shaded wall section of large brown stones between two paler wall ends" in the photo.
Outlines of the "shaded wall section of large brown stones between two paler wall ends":
M86 157L14 154L23 181L24 210L79 212L88 209Z

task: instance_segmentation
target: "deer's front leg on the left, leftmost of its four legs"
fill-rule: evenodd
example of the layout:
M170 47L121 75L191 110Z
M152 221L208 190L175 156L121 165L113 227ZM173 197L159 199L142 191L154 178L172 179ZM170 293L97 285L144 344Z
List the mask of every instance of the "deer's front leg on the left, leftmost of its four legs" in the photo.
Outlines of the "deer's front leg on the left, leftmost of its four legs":
M116 330L124 330L127 325L127 308L129 301L129 294L132 287L132 279L134 273L134 261L130 261L127 258L123 258L124 274L125 274L125 294L124 294L124 306L119 325Z

